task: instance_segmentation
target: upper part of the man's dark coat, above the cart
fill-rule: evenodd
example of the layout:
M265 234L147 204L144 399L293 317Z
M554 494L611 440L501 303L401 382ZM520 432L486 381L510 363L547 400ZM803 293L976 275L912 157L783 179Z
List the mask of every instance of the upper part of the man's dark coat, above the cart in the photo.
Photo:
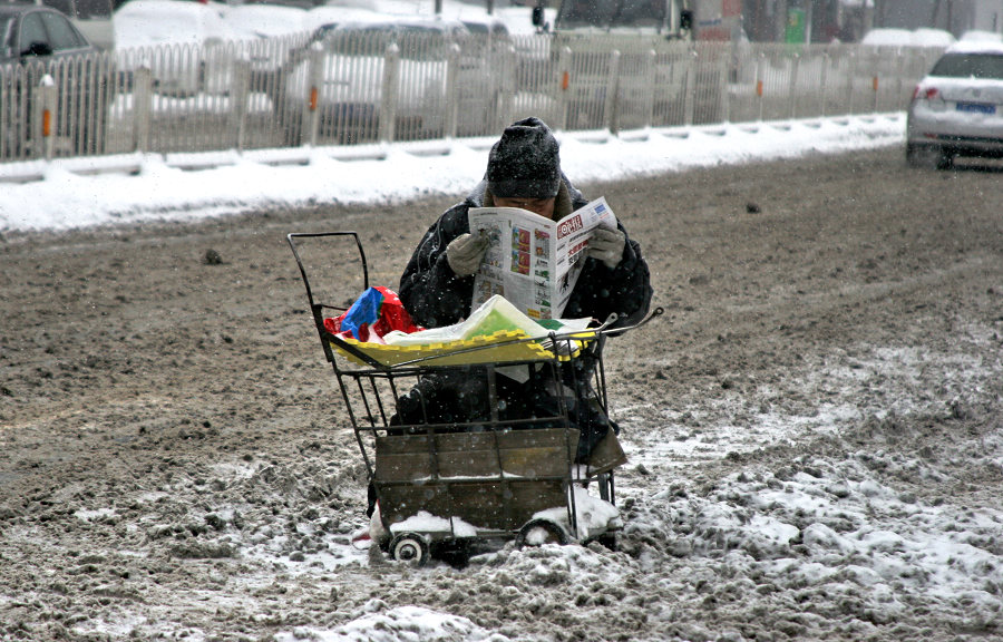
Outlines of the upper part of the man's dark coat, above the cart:
M555 218L559 218L588 202L567 179L557 195ZM446 260L449 243L470 231L467 211L493 205L486 183L481 182L462 203L446 211L425 233L425 237L400 278L400 299L415 322L427 328L458 323L470 315L474 276L457 276ZM622 223L620 231L626 235ZM616 313L617 327L640 321L651 304L652 289L647 264L641 246L630 236L623 249L623 260L615 269L601 261L586 259L578 282L572 291L562 317L593 318L605 321Z

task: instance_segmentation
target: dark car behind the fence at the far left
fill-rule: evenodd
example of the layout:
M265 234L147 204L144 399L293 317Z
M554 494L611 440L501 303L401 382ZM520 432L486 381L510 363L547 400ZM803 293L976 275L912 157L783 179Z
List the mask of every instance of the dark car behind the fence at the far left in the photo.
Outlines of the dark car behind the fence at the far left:
M57 148L99 153L113 75L100 50L66 14L38 4L0 4L0 157L38 155L33 116L49 82L58 91Z

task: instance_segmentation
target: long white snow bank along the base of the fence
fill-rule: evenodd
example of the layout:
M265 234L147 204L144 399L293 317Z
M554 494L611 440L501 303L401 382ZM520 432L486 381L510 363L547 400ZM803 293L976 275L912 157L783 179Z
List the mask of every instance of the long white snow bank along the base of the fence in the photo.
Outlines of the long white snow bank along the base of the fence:
M615 181L688 167L837 154L902 144L903 114L629 132L620 137L558 135L562 164L576 182ZM274 149L199 155L218 164L184 171L160 155L76 158L0 165L0 231L67 230L145 220L191 220L311 203L361 204L429 194L461 194L484 174L494 138L434 145ZM429 152L431 149L431 152ZM378 159L367 159L368 156ZM305 160L305 164L290 159ZM138 167L138 174L100 167ZM70 171L72 169L72 171ZM388 178L390 177L390 178Z

